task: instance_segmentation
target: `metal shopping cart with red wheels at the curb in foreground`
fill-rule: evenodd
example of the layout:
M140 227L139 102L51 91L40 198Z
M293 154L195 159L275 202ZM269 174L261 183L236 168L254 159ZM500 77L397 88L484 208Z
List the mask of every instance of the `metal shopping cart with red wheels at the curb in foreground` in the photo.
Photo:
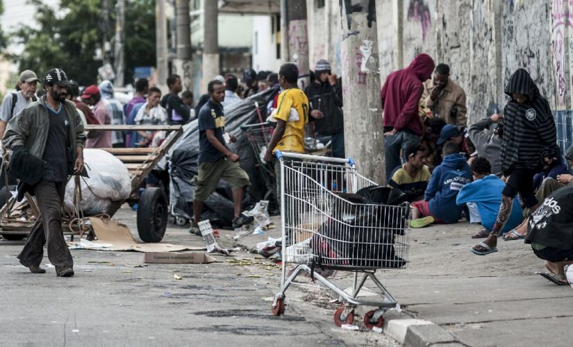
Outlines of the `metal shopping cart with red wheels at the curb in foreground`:
M284 314L285 291L290 285L309 286L295 282L306 272L339 296L342 307L334 314L336 325L351 324L356 306L365 305L377 307L365 314L366 327L382 328L382 314L397 301L375 272L406 266L408 204L373 203L368 192L390 188L381 189L360 176L351 159L275 153L281 162L283 264L281 290L274 297L272 313ZM289 263L295 266L287 276ZM354 272L351 292L326 279L324 272L332 270ZM368 279L379 289L374 296L372 292L360 295Z

